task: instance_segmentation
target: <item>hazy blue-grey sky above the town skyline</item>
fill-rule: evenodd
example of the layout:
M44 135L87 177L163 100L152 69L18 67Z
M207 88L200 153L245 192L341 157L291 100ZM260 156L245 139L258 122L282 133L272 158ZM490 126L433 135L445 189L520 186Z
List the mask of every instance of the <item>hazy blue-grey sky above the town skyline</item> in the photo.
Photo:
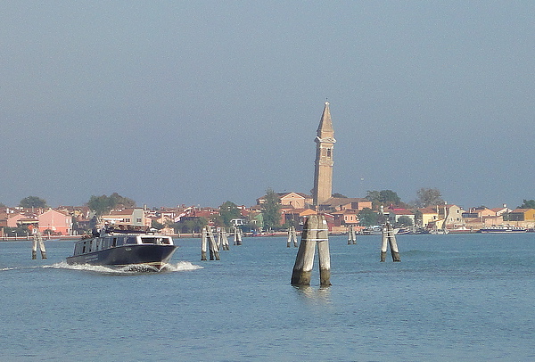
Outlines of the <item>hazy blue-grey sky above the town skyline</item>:
M0 4L0 202L251 206L309 193L535 199L535 2Z

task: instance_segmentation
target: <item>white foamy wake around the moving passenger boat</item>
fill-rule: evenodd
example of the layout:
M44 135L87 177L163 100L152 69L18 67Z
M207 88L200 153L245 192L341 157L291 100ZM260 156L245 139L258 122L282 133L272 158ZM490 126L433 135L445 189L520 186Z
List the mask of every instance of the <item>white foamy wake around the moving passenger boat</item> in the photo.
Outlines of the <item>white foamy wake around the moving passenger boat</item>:
M53 265L43 266L51 267L54 269L70 269L70 270L82 270L100 274L109 275L135 275L146 273L169 273L179 271L190 271L196 269L202 269L198 265L194 265L189 261L179 261L177 264L165 264L161 270L157 267L152 267L144 264L132 264L125 267L111 267L102 265L89 265L89 264L67 264L66 261L55 263Z

